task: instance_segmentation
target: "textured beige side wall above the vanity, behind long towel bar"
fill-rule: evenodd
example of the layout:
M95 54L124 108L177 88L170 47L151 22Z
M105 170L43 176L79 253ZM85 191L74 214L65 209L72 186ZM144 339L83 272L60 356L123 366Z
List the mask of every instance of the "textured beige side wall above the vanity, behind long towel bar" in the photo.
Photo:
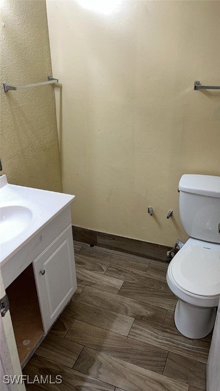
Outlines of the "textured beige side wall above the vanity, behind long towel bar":
M51 73L45 1L1 0L1 82L46 81ZM10 183L60 191L61 169L52 86L0 89L1 151Z

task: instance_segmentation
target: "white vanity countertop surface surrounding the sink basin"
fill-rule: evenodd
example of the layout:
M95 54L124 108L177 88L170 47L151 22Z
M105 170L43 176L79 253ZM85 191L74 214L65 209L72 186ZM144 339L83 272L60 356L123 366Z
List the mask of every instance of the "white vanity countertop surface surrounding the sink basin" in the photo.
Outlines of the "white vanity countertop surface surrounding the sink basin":
M0 243L0 265L5 264L74 199L75 195L11 185L8 184L6 175L2 175L0 177L0 213L3 207L13 207L12 210L16 210L15 206L22 206L29 209L31 217L29 216L28 226L21 233ZM0 224L4 224L4 218Z

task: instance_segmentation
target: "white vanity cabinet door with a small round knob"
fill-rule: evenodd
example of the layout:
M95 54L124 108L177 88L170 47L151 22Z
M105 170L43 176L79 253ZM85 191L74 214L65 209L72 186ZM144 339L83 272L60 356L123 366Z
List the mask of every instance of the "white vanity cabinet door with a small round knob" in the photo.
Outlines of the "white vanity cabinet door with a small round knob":
M48 331L76 290L72 226L69 225L34 262L44 331Z

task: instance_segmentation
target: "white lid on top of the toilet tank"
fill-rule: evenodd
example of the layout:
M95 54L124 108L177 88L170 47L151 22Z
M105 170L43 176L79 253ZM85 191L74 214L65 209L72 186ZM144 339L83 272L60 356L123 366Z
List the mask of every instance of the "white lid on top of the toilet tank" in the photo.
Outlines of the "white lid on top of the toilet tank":
M179 190L220 198L220 177L184 174L179 182Z

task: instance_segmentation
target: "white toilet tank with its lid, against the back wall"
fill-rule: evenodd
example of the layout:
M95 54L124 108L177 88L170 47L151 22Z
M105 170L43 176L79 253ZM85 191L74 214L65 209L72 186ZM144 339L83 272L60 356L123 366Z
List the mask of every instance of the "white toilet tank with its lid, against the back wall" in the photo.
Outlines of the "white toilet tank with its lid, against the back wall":
M187 235L220 243L220 177L185 174L179 191L180 219Z

